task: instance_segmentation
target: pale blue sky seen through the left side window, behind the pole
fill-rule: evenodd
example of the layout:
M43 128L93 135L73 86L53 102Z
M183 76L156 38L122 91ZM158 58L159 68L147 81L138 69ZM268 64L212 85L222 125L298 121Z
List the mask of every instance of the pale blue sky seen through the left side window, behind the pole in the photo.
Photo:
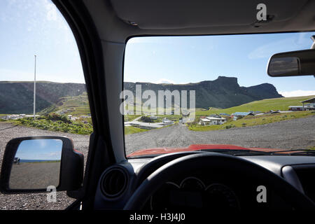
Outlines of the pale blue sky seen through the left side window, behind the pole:
M85 83L76 41L48 0L0 1L0 80Z

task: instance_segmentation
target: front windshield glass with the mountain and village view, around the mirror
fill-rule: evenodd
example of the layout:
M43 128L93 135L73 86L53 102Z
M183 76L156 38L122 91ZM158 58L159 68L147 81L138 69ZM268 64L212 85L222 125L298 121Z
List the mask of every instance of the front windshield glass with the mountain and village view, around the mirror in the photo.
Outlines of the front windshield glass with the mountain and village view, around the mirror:
M314 34L130 38L120 94L127 158L314 150L314 76L266 71L272 55L311 48Z

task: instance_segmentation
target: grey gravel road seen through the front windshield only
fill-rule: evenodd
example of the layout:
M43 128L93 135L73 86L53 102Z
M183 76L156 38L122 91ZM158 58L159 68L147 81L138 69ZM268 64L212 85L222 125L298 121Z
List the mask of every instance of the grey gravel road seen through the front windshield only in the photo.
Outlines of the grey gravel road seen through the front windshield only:
M315 146L315 116L253 127L194 132L174 125L125 137L126 154L142 148L233 144L244 147L296 149Z

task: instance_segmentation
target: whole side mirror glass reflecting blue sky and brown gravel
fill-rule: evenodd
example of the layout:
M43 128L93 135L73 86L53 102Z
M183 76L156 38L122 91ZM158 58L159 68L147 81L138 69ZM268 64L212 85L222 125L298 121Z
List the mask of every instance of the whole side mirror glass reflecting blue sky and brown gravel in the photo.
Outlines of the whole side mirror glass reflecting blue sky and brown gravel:
M62 140L21 141L13 159L10 189L43 189L59 185Z

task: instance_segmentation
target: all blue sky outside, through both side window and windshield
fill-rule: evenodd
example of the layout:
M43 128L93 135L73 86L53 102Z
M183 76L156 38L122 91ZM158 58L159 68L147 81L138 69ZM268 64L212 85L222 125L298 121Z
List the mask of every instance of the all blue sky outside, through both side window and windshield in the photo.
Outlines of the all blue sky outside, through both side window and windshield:
M49 0L0 1L0 80L84 83L73 34ZM218 76L239 85L272 83L285 96L315 94L313 76L271 78L269 57L309 49L312 33L132 38L127 43L125 80L195 83Z

